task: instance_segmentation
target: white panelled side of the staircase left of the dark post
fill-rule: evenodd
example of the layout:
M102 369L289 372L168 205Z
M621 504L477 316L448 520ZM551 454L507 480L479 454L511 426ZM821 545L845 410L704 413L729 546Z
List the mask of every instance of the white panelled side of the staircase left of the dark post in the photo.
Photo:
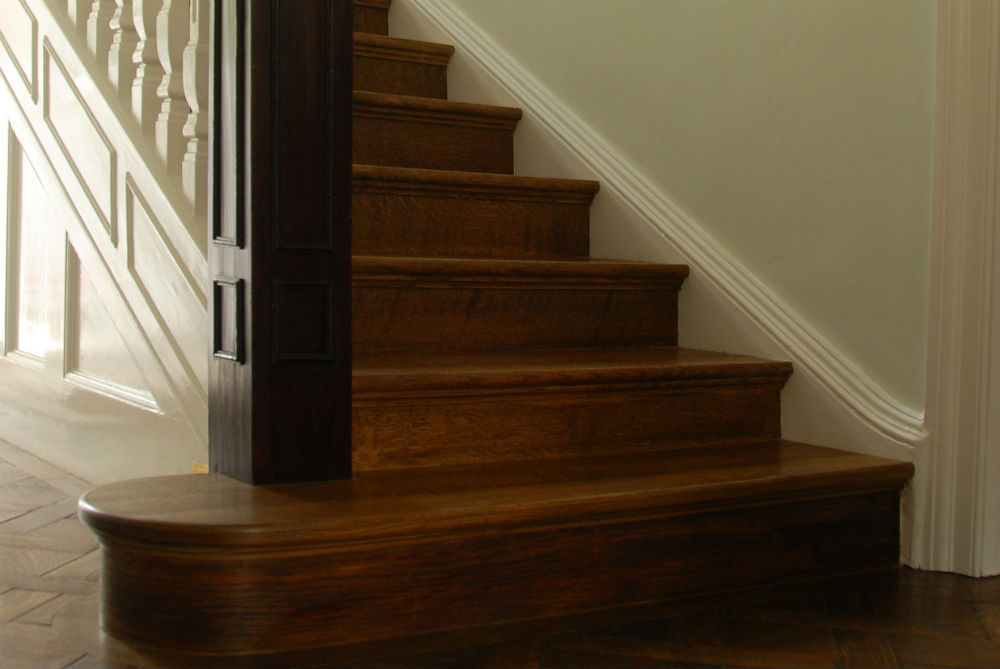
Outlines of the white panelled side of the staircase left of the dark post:
M88 17L0 3L0 439L94 483L187 473L207 459L207 235L181 178L203 168L197 119L159 151L190 106L147 63L143 124L109 70L136 45L123 7L164 10L173 58L196 26L170 12L192 5L87 4L96 50Z

